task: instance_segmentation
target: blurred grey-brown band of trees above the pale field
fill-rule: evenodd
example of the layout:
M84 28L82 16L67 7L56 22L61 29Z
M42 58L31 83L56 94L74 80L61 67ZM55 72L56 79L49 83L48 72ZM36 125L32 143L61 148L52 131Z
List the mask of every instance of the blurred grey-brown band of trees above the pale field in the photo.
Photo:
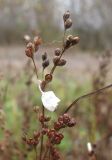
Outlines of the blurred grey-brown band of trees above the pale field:
M0 43L21 43L26 33L40 33L45 41L58 40L63 32L61 15L70 10L72 32L80 35L80 47L109 49L111 9L111 0L0 0Z

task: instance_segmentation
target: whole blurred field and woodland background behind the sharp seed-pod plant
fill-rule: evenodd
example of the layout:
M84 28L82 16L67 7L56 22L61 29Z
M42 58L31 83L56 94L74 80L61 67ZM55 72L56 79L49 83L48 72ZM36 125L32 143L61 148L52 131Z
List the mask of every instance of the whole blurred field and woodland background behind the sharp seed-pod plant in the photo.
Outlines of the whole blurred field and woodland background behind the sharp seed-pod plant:
M55 120L77 97L112 83L112 0L0 0L0 160L31 160L35 153L22 141L39 127L33 106L40 93L32 84L32 62L25 55L24 35L40 35L43 44L35 54L40 79L41 55L47 52L52 67L54 50L62 47L63 14L69 10L73 25L68 34L80 43L64 55L48 90L61 99L50 116ZM83 99L70 114L77 125L64 132L60 144L66 160L88 159L87 142L96 146L98 160L112 159L112 89ZM35 122L35 123L34 123ZM75 158L74 158L75 157Z

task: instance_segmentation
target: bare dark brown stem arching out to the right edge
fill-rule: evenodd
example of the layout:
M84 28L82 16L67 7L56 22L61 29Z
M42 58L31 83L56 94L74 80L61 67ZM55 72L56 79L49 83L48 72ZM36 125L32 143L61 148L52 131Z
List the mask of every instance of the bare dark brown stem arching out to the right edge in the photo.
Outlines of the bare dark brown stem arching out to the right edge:
M81 100L81 99L83 99L83 98L86 98L86 97L89 97L89 96L92 96L92 95L94 95L94 94L99 94L99 93L101 93L103 90L108 89L108 88L111 88L111 87L112 87L112 84L110 84L110 85L108 85L108 86L106 86L106 87L103 87L103 88L101 88L101 89L98 89L98 90L96 90L96 91L90 92L90 93L88 93L88 94L85 94L85 95L83 95L83 96L81 96L81 97L78 97L75 101L73 101L73 102L67 107L67 109L64 111L64 113L67 113L67 112L73 107L73 105L75 105L79 100Z

